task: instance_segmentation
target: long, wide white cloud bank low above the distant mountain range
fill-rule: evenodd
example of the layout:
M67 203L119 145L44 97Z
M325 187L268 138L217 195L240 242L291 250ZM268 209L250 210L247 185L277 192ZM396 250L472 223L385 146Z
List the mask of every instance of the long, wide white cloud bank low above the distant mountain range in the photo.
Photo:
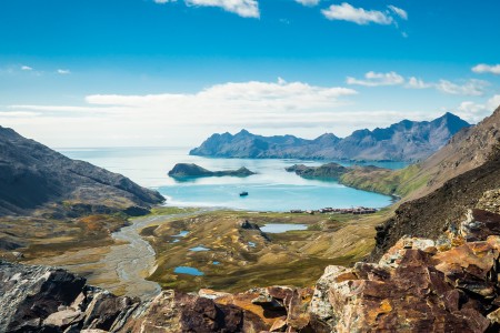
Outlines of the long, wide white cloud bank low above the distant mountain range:
M258 112L307 110L331 108L339 104L338 99L356 94L357 91L340 87L317 87L302 82L228 82L216 84L194 94L149 94L149 95L89 95L90 104L121 107L188 108L211 110L212 112ZM216 107L217 105L217 107ZM226 110L226 111L224 111ZM206 111L203 111L206 112ZM231 112L230 112L231 113Z

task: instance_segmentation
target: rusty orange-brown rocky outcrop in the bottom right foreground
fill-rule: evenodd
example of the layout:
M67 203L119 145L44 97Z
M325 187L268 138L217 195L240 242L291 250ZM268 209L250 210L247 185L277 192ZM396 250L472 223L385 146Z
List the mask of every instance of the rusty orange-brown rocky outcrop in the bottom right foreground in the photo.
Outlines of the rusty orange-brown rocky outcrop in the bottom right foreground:
M402 239L378 264L327 268L310 313L328 332L498 332L499 250L500 236Z

